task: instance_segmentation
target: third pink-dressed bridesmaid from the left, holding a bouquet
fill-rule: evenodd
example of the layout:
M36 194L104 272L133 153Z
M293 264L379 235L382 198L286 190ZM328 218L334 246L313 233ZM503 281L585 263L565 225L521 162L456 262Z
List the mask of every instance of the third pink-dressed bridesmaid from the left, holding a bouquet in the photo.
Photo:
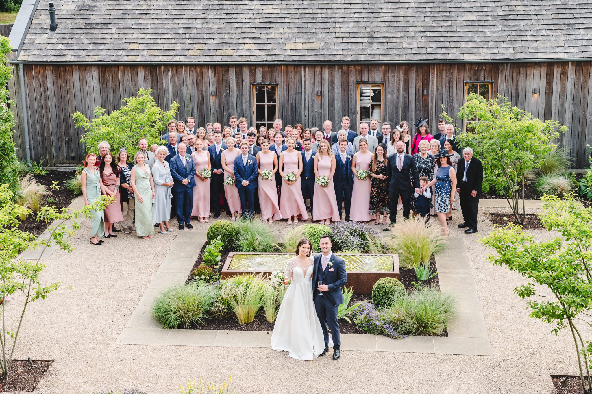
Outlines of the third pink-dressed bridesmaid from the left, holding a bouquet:
M278 188L275 186L275 172L278 170L278 156L269 150L269 141L261 143L261 151L257 153L259 166L259 206L263 223L273 223L281 219L278 204ZM263 179L263 171L271 170L273 175L269 179ZM269 219L269 222L268 222Z

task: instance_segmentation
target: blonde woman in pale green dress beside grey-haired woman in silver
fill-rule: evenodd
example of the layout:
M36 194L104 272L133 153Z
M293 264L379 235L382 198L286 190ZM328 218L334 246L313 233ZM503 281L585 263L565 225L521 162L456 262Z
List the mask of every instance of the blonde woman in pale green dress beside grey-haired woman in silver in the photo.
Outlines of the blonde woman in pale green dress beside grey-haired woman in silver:
M155 196L154 180L147 164L144 164L144 154L137 151L136 165L131 169L131 187L136 195L136 234L144 240L154 235L152 222L152 201Z

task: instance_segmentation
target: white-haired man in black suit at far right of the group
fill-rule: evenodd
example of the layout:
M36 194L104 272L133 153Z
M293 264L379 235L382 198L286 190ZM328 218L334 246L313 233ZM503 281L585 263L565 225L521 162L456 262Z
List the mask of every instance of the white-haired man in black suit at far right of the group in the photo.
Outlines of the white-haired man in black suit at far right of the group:
M462 157L464 160L458 160L456 191L461 196L462 217L465 221L458 227L466 228L466 234L473 234L477 232L477 210L483 190L483 165L481 160L473 157L471 148L464 148Z

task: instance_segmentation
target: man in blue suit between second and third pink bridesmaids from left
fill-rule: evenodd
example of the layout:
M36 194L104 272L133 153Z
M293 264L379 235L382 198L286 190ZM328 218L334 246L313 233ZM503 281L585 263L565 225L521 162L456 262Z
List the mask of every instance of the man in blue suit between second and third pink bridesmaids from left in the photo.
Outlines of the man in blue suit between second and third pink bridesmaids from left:
M253 217L255 211L255 189L257 189L257 159L249 154L249 143L240 143L241 154L234 158L234 178L236 188L239 189L240 208L243 215Z

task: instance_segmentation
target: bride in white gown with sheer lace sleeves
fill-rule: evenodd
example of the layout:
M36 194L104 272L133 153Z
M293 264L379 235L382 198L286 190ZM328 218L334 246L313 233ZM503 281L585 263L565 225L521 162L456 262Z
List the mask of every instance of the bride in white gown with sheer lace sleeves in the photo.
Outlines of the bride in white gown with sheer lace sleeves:
M273 350L289 351L289 356L297 360L316 359L324 350L323 331L313 303L311 248L310 240L302 238L296 247L296 256L288 261L284 284L288 279L292 283L279 307L271 335Z

